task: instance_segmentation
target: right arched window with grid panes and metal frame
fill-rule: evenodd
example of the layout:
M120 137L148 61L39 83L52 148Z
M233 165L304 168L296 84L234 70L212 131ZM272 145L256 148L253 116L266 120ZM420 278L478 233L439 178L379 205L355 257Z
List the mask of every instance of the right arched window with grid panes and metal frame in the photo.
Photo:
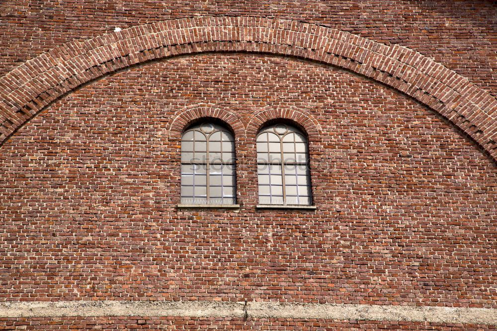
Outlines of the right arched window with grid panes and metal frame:
M307 139L298 129L277 124L257 135L259 204L311 205Z

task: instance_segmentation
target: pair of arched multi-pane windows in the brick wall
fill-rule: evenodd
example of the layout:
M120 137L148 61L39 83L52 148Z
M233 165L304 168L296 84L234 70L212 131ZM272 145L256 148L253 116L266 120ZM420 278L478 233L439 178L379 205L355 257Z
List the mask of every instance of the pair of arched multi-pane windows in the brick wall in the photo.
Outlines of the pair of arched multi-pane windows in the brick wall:
M260 205L311 205L307 139L285 124L257 134ZM236 157L233 134L223 126L202 123L181 137L181 204L236 204Z

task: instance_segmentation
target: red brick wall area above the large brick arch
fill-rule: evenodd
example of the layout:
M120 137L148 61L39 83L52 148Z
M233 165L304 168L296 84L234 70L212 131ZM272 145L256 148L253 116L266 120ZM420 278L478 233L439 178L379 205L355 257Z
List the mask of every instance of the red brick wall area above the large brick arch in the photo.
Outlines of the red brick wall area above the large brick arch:
M17 1L0 8L1 73L56 45L166 19L253 15L320 23L399 44L497 94L495 1Z

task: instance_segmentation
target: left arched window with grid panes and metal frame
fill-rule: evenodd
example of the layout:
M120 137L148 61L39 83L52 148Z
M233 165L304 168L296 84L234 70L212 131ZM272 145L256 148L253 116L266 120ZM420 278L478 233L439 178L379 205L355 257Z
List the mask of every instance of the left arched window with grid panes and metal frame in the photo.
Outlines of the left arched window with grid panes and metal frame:
M233 135L213 123L189 128L181 136L181 204L235 203Z

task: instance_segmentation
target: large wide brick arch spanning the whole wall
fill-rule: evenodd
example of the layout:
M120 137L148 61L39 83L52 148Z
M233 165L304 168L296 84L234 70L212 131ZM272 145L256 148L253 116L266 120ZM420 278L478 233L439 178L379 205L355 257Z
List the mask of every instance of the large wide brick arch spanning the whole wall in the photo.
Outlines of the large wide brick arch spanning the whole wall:
M408 48L326 26L250 16L167 20L74 41L0 78L0 143L51 102L115 70L201 52L258 52L319 61L413 97L475 139L497 161L497 100Z

